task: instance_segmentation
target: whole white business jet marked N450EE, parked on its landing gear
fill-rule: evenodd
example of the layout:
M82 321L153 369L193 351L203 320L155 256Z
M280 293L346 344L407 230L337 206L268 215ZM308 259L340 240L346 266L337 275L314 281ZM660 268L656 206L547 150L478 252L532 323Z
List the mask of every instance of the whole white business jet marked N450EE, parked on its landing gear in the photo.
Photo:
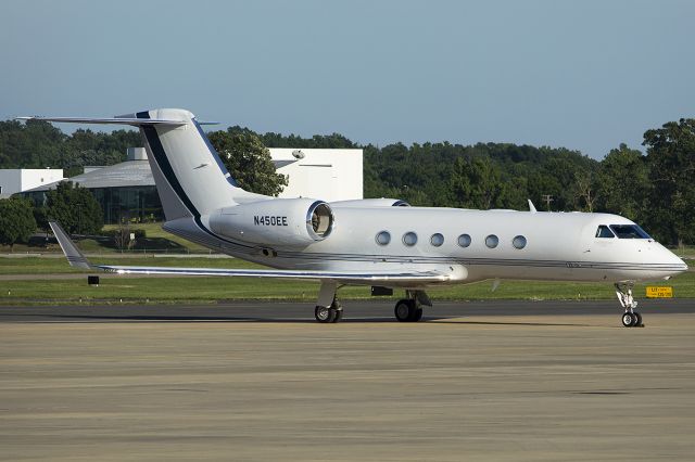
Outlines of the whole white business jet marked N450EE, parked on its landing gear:
M184 110L112 118L23 117L138 127L152 167L164 229L268 270L92 265L61 227L51 228L74 267L119 274L191 274L320 281L315 317L338 322L337 292L370 285L376 295L405 290L399 321L431 306L425 290L482 280L614 283L622 324L642 324L632 287L668 280L687 266L634 222L607 214L410 207L377 198L326 203L276 198L239 188L201 123ZM493 284L494 285L494 284Z

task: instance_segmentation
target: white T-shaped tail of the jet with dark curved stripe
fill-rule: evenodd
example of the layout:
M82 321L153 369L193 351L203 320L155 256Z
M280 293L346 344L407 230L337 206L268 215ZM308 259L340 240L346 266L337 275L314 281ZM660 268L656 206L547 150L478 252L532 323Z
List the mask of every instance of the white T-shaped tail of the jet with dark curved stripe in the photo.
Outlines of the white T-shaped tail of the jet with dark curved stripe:
M250 198L266 198L237 187L201 124L186 110L152 110L111 118L20 118L139 127L167 221L199 218Z

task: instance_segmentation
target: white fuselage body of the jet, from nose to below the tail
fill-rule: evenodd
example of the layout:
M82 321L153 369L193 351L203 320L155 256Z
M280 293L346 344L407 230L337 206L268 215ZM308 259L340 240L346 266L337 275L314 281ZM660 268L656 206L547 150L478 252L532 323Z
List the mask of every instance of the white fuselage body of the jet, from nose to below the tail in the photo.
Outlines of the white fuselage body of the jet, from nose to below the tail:
M334 228L324 241L306 247L273 247L277 256L215 242L187 226L187 239L236 257L282 269L399 270L403 268L450 272L462 266L463 282L485 279L552 281L645 281L678 274L687 267L659 243L647 239L595 238L599 224L634 224L608 214L530 213L514 210L469 210L430 207L333 207ZM203 223L205 219L203 217ZM167 230L177 232L167 223ZM388 245L379 245L380 231L391 234ZM415 232L417 244L403 243L406 232ZM192 236L191 233L195 233ZM444 243L431 245L432 234ZM469 234L470 246L457 244ZM498 245L489 248L485 238L494 234ZM513 246L522 235L525 248ZM249 244L249 247L254 246ZM460 282L460 281L457 281Z

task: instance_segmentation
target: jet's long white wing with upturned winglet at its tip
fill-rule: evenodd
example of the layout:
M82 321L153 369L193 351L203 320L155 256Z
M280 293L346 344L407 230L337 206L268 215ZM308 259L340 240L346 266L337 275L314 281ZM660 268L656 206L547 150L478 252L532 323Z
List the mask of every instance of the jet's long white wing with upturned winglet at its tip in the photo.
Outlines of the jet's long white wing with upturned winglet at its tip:
M174 274L174 275L219 275L270 279L302 279L311 281L336 281L353 284L389 284L389 283L442 283L460 280L457 271L312 271L278 269L219 269L219 268L174 268L174 267L139 267L118 265L93 265L77 248L65 231L55 221L49 224L55 234L65 257L71 266L81 269L101 270L117 274Z

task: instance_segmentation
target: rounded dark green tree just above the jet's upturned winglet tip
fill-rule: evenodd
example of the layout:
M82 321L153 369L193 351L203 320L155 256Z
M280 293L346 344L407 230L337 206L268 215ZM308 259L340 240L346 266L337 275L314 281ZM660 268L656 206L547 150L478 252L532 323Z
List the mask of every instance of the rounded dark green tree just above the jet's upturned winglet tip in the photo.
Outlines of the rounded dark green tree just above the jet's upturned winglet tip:
M46 193L46 216L58 221L68 233L96 234L104 226L101 205L79 184L63 181Z

